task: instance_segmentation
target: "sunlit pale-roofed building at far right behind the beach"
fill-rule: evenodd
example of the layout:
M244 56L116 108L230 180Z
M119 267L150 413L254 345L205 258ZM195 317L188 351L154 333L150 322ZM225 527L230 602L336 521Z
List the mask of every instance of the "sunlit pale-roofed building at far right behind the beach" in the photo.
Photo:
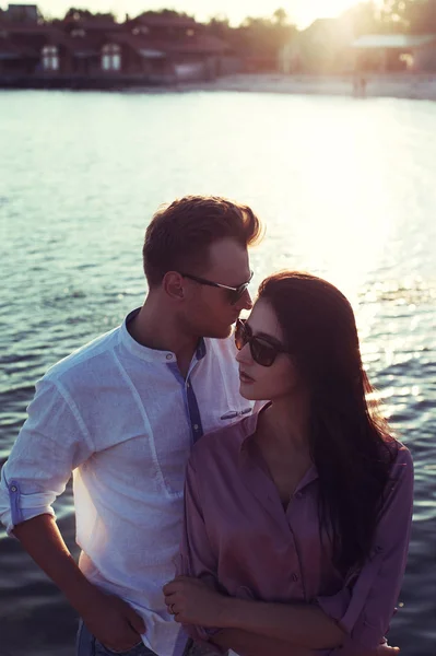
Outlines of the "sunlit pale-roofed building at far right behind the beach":
M351 47L356 70L436 71L436 34L366 34L354 40Z

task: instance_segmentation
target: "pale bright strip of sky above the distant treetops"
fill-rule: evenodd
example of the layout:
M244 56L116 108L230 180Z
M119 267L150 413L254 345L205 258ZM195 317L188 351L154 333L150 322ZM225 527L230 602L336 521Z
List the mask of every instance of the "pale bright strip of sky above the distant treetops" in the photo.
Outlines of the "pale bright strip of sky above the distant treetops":
M40 0L37 4L47 16L61 16L71 5L95 12L113 11L119 19L125 17L126 13L134 16L145 10L167 8L186 11L199 21L225 14L233 24L238 24L247 15L271 15L275 9L283 7L292 22L305 27L315 19L335 16L357 2L358 0Z

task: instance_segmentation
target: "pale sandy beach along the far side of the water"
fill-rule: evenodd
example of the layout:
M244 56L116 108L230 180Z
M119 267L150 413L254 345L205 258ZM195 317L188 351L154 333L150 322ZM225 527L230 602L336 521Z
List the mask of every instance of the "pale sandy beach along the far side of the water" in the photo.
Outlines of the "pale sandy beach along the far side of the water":
M337 95L346 97L393 97L436 101L436 74L366 74L364 96L353 93L352 74L285 75L281 73L234 74L213 81L179 82L161 91L235 91L239 93L283 93L294 95ZM150 87L129 91L151 91ZM157 90L154 90L157 91Z

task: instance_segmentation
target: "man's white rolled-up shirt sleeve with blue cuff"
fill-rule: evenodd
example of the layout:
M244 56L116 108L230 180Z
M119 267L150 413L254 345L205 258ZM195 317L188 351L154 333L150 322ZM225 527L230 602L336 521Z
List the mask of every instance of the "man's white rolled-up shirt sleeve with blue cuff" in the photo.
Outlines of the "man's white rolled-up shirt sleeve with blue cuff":
M51 504L71 472L93 453L91 438L73 399L44 378L1 470L0 519L8 534L38 515L55 515Z

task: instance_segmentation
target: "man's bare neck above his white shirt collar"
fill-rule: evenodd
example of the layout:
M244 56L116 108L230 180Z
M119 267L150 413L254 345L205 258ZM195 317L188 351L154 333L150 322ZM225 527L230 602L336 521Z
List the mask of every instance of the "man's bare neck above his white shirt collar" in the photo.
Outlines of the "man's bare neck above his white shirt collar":
M186 377L198 338L180 329L175 316L149 295L137 316L129 323L131 337L140 344L157 351L172 351L180 373Z

